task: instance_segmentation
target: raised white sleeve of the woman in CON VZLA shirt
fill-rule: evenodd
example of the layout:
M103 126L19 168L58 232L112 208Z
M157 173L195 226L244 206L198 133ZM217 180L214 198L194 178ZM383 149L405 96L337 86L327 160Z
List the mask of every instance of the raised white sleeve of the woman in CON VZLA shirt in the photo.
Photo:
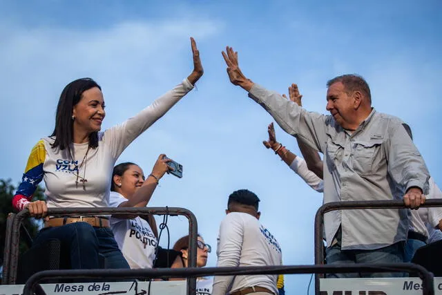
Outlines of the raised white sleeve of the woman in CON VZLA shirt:
M144 108L135 117L131 117L126 122L106 130L104 141L111 147L113 158L117 159L135 138L152 126L192 89L193 85L188 79L184 79L181 84L155 99L150 106Z

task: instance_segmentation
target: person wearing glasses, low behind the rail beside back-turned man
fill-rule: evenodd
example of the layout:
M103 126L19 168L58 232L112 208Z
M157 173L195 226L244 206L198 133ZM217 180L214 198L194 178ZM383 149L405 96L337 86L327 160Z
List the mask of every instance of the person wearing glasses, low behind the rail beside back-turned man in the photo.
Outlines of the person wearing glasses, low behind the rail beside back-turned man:
M204 242L204 239L198 234L197 240L197 252L196 252L196 266L205 267L207 264L207 258L212 251L212 247ZM179 238L173 250L181 252L182 264L184 267L189 267L189 235ZM174 267L172 267L174 268ZM196 280L196 295L211 295L212 294L212 278L197 278Z

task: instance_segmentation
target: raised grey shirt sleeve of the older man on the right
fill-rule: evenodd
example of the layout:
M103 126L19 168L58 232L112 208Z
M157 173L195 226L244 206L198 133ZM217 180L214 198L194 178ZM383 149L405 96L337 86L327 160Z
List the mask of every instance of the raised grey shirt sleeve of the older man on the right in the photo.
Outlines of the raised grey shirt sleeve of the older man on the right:
M327 141L325 133L327 116L307 112L298 104L258 84L253 84L249 97L265 108L285 132L298 135L312 149L323 152L322 146Z

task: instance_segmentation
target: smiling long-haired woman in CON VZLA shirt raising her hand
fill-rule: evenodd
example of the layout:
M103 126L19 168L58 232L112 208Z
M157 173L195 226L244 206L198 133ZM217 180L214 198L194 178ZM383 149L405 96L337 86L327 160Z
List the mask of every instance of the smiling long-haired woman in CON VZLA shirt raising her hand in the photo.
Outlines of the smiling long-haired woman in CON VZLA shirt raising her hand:
M164 115L203 74L195 40L191 38L193 72L171 91L156 99L123 124L99 132L104 120L104 98L93 79L70 82L61 93L55 129L32 149L23 179L12 200L15 208L27 208L30 216L42 218L53 207L108 207L111 173L115 161L126 147ZM150 176L155 178L154 175ZM41 180L46 184L47 204L31 202ZM108 268L127 268L128 264L105 216L46 218L35 243L50 238L70 249L73 269L100 268L99 256Z

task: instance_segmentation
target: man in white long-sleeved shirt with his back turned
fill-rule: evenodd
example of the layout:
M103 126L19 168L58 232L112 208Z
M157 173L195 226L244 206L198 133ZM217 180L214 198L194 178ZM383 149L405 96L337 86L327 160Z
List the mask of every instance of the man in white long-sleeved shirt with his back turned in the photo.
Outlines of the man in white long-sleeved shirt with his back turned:
M218 234L218 267L282 265L278 241L258 219L255 193L233 191ZM212 295L278 294L277 275L215 276Z

